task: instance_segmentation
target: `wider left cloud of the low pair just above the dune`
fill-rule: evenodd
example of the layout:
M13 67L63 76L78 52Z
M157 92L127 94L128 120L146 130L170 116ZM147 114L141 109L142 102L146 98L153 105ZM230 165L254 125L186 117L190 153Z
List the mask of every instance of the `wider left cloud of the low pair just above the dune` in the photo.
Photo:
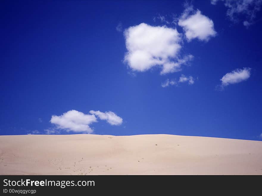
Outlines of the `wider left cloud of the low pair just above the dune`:
M95 115L84 114L77 110L70 110L60 116L52 115L50 120L58 129L66 129L66 131L92 133L90 124L97 122Z

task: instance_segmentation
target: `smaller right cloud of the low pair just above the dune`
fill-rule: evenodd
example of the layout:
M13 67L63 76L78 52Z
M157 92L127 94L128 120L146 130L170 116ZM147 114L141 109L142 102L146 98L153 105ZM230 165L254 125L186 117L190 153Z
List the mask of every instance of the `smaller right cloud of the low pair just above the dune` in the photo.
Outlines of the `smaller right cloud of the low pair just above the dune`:
M98 116L101 120L106 120L110 125L121 125L123 122L123 119L116 115L114 112L108 111L108 112L100 112L100 111L94 111L91 110L89 113L94 114Z

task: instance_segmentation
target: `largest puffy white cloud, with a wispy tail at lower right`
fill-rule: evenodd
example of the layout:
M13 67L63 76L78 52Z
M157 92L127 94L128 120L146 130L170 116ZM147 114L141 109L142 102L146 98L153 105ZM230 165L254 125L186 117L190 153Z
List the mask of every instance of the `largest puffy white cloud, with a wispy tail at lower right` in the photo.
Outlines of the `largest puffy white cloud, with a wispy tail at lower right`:
M173 28L141 23L125 30L124 36L127 47L124 61L134 71L144 72L161 66L161 74L176 72L193 57L188 55L183 59L178 58L182 39Z

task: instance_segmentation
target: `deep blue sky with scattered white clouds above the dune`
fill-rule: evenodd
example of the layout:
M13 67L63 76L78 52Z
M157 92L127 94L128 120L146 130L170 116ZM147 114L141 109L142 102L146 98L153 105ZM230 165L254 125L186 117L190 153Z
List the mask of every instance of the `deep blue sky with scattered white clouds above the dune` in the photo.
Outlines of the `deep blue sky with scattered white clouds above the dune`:
M2 1L0 133L261 140L261 4Z

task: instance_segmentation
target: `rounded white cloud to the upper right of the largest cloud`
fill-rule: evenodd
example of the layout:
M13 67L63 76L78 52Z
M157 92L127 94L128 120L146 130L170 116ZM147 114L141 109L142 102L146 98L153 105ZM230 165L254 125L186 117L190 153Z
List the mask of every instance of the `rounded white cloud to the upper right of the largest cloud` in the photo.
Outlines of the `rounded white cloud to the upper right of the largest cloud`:
M213 21L202 15L200 10L194 11L193 6L186 7L178 20L178 25L183 27L188 41L194 38L208 41L210 37L216 36Z

